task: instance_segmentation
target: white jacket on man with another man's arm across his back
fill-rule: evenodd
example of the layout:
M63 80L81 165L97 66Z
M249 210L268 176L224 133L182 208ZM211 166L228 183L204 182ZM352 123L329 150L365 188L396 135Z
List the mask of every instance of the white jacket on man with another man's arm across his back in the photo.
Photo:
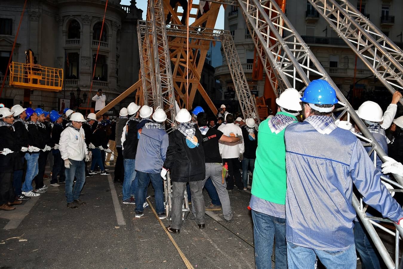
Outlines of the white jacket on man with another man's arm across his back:
M220 126L221 127L221 126ZM219 128L220 129L220 128ZM226 136L242 136L242 129L234 123L227 123L220 131ZM245 151L245 145L242 142L228 143L219 141L220 154L223 159L239 158L239 154Z

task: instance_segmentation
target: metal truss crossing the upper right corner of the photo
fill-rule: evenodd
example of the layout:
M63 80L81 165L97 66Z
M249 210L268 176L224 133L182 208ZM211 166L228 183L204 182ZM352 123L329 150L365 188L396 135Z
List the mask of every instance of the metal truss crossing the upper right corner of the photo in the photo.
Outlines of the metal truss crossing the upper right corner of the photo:
M403 90L403 51L395 43L347 0L308 1L392 94Z

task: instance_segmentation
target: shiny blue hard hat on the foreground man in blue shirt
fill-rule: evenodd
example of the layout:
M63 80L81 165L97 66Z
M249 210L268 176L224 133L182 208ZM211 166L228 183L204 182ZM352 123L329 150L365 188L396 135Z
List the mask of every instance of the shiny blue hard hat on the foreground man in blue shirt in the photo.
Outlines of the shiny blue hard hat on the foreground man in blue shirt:
M305 88L301 101L310 104L337 104L339 102L334 88L323 79L311 81Z

